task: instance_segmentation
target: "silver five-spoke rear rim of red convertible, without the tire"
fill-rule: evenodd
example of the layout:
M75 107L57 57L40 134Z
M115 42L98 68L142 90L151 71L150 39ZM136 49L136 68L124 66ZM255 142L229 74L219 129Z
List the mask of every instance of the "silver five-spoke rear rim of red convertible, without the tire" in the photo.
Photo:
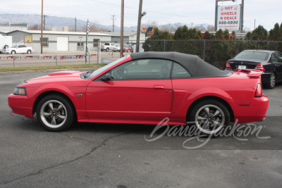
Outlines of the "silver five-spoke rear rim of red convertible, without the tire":
M225 122L225 116L219 106L208 104L202 106L195 115L197 128L206 134L219 132Z

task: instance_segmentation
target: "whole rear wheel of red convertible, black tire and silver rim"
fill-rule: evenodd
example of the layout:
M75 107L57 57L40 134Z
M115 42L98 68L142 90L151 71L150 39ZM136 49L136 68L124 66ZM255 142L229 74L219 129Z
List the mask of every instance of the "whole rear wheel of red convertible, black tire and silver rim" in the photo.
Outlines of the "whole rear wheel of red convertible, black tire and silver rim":
M188 114L188 122L195 125L202 134L212 134L214 136L224 125L229 125L230 114L226 106L220 101L200 101L192 108L191 113ZM216 126L214 127L214 125Z

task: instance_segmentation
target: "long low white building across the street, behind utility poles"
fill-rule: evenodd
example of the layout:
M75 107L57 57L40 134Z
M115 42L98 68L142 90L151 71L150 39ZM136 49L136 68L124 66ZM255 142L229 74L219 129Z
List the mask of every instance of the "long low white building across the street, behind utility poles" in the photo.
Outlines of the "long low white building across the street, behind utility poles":
M34 53L41 53L40 30L13 30L2 32L2 35L13 37L13 45L23 44L32 46ZM136 32L125 32L124 44L136 44ZM87 46L89 51L97 51L98 42L120 43L121 34L113 32L90 32ZM140 33L140 40L145 40L145 33ZM85 51L85 32L62 32L43 31L43 52L44 51Z

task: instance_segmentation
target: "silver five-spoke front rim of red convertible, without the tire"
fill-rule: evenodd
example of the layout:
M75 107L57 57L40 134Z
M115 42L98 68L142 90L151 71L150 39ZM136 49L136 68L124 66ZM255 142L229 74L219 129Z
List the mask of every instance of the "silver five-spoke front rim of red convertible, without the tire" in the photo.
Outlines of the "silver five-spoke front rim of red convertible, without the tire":
M40 109L40 118L48 127L61 127L67 119L66 106L64 106L60 101L47 101Z

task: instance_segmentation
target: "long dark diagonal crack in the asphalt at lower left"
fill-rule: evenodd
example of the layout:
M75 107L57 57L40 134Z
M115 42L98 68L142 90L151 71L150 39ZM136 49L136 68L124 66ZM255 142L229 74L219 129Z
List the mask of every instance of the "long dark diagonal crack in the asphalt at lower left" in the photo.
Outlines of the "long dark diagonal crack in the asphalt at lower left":
M98 146L94 146L94 147L91 149L91 151L89 151L89 152L85 153L84 155L79 156L78 158L75 158L75 159L73 159L73 160L71 160L71 161L66 161L66 162L64 162L64 163L60 163L60 164L57 164L57 165L52 165L52 166L50 166L50 167L47 167L47 168L44 168L44 169L39 170L37 173L30 173L29 175L25 175L25 176L23 176L23 177L18 177L18 178L16 178L15 180L10 180L10 181L8 181L8 182L0 183L0 185L1 185L1 184L8 184L8 183L11 183L11 182L15 182L15 181L20 180L20 179L23 179L23 178L25 178L25 177L30 177L30 176L32 176L32 175L38 175L38 174L40 174L40 173L43 173L44 170L49 170L49 169L51 169L51 168L56 168L56 167L58 167L58 166L60 166L60 165L65 165L65 164L68 164L68 163L73 163L73 162L75 162L75 161L78 161L78 160L80 160L80 158L84 158L84 157L86 157L86 156L90 156L91 153L93 153L94 151L96 151L96 150L99 149L100 147L105 146L105 145L106 145L106 142L108 142L110 139L114 139L114 138L116 138L116 137L119 137L119 136L121 136L121 135L123 135L123 134L128 134L128 133L130 133L130 132L121 132L120 134L116 134L116 135L113 135L113 136L111 136L111 137L108 137L108 138L104 139L104 141L101 142L101 144L99 144Z

